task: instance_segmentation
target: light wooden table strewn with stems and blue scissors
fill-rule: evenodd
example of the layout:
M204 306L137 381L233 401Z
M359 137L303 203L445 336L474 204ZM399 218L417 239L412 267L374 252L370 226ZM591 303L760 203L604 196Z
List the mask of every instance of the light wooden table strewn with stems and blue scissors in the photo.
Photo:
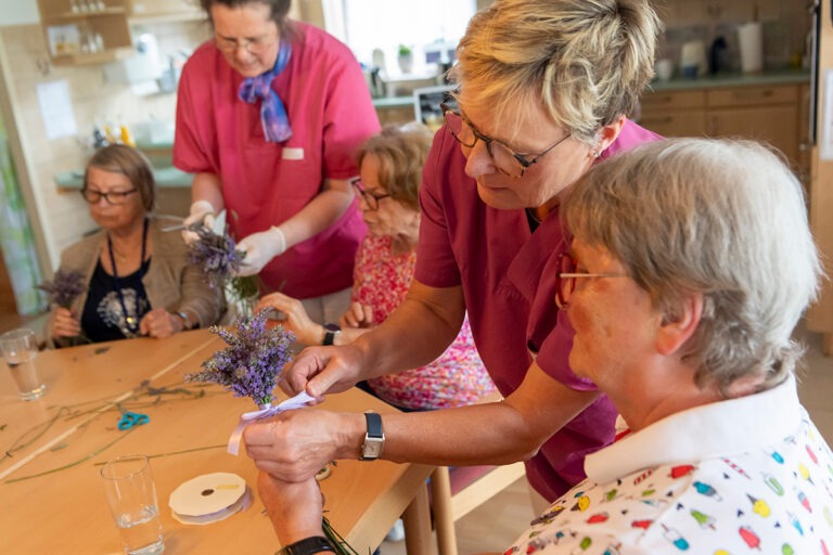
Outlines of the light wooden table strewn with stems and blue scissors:
M47 395L29 402L17 399L11 376L0 372L0 452L11 451L0 460L0 552L120 553L99 472L106 460L138 452L152 456L166 553L274 553L278 540L254 491L257 470L244 454L226 452L252 401L182 380L222 347L197 331L43 351L37 364ZM358 389L328 397L322 408L395 411ZM121 409L148 414L150 422L119 430ZM328 517L363 555L407 508L408 553L433 553L424 487L432 469L339 461L321 482ZM215 472L242 476L253 488L252 506L207 526L174 519L170 492Z

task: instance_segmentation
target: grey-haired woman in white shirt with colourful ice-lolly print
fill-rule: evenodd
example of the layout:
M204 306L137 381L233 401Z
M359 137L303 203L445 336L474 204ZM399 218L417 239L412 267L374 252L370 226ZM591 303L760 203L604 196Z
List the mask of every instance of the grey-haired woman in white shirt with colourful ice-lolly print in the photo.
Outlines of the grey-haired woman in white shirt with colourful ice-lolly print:
M571 366L628 429L504 553L830 553L833 453L791 337L821 270L790 169L753 142L656 142L591 169L562 215ZM315 482L275 483L279 538L312 533Z

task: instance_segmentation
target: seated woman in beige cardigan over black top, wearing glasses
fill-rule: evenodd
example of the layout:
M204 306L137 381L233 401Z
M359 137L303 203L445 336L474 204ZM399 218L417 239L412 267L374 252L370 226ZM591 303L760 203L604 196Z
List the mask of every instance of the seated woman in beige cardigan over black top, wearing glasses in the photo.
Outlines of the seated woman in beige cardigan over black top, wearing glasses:
M62 273L80 275L85 286L71 307L52 308L51 343L168 337L219 320L221 292L188 263L181 235L163 232L152 216L155 183L139 151L121 144L98 151L81 194L100 229L61 255Z

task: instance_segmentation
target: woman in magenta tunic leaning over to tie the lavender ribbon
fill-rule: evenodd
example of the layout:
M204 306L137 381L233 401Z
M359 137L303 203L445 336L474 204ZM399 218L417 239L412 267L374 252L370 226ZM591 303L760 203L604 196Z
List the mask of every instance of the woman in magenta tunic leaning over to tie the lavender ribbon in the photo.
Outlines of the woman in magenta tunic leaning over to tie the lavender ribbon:
M445 465L524 460L540 506L584 479L585 455L613 441L616 411L567 361L573 331L552 302L553 251L567 249L559 206L594 164L657 139L627 115L653 75L659 26L648 0L496 0L476 14L452 69L457 106L446 106L423 170L406 300L350 345L305 350L283 387L320 399L424 364L467 311L505 400L385 414L382 456ZM325 417L296 411L279 416L280 426L251 426L248 453L287 481L307 479L333 457L368 459L372 416L338 415L337 425L316 428L320 437L294 440L294 429Z

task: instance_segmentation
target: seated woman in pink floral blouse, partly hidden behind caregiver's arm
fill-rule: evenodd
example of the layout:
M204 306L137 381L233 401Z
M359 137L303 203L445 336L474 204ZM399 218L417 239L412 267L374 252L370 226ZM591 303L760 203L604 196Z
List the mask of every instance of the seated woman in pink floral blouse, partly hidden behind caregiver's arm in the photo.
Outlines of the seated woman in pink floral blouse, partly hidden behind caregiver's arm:
M282 293L265 296L255 310L281 311L284 327L304 345L346 345L384 322L405 299L413 278L420 178L431 140L425 126L388 126L359 150L361 179L353 184L369 234L356 253L351 306L341 318L341 325L313 322L297 299ZM467 320L435 361L373 377L362 386L402 410L471 404L495 390L477 356Z

